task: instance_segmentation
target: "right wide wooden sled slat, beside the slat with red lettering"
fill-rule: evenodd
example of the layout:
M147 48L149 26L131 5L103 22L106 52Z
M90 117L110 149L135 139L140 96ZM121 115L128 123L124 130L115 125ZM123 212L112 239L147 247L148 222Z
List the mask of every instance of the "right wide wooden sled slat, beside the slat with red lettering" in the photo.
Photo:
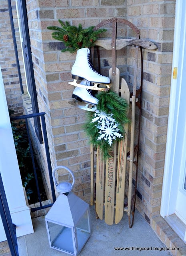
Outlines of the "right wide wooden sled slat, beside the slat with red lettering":
M130 91L124 78L121 84L121 97L130 102ZM128 114L128 112L126 113ZM116 213L115 223L118 224L123 216L124 195L125 195L125 178L126 178L126 153L128 140L128 124L124 125L125 135L118 145L118 168L117 168L117 185L116 185Z

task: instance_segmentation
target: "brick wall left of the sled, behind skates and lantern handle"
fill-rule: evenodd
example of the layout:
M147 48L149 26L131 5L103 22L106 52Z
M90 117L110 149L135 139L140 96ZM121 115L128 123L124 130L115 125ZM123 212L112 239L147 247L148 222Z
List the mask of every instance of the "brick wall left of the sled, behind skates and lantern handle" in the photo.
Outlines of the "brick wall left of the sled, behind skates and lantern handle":
M59 18L84 27L113 16L123 18L126 1L117 1L117 6L113 1L98 0L26 3L38 104L40 112L46 112L47 116L52 167L65 165L73 170L74 192L90 201L90 146L82 128L86 112L68 103L74 90L68 81L76 54L60 52L62 43L52 38L47 26L59 25ZM59 180L70 178L64 170L59 170L58 174Z

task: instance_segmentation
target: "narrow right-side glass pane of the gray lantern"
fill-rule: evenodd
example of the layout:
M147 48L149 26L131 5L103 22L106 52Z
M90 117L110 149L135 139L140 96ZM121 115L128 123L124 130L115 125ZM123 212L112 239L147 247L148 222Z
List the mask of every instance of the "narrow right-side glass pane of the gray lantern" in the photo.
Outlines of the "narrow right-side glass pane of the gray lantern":
M86 243L86 241L90 236L90 223L89 223L88 210L80 218L76 226L76 233L77 233L77 242L78 242L78 252L80 252L80 250L82 250L84 244Z

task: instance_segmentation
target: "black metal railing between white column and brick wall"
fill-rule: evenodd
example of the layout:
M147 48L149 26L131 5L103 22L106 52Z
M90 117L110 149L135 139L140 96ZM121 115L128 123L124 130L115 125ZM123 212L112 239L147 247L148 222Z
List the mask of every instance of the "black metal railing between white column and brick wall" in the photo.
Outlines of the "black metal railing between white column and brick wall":
M34 172L34 176L35 176L38 200L39 200L39 204L40 204L39 207L31 208L31 212L35 212L37 210L48 208L48 207L52 206L53 203L56 201L56 195L55 195L55 190L54 190L54 182L53 182L53 178L52 178L52 166L51 166L51 161L50 161L48 138L47 138L47 132L46 132L45 114L46 114L45 112L42 112L42 113L36 113L36 114L28 114L28 115L10 117L10 121L25 120L25 122L26 122L28 143L29 143L29 146L30 146L30 155L31 155L31 158L32 158L32 167L33 167L33 172ZM45 146L45 153L46 153L48 172L49 172L48 174L49 174L49 179L50 179L50 188L51 188L52 200L53 200L53 203L46 204L46 205L42 205L42 198L40 196L40 194L41 194L40 193L40 186L39 186L39 182L38 182L38 175L37 175L37 172L36 172L36 165L35 165L35 161L34 161L34 149L33 149L33 146L32 146L32 140L31 140L30 129L29 129L29 124L28 124L28 119L29 118L34 118L34 117L40 117L41 118L42 136L43 136L43 142L44 142L44 146Z

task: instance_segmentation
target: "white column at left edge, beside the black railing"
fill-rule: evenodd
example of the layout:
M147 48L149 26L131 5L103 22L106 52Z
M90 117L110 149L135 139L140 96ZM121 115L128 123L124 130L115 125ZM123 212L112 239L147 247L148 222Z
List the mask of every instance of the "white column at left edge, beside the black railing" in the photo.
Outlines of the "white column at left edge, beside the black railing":
M12 128L8 114L8 106L0 68L0 172L4 184L4 190L12 217L16 225L17 236L23 236L33 232L30 209L26 205L24 191L14 146ZM0 218L0 242L6 240L4 227Z

